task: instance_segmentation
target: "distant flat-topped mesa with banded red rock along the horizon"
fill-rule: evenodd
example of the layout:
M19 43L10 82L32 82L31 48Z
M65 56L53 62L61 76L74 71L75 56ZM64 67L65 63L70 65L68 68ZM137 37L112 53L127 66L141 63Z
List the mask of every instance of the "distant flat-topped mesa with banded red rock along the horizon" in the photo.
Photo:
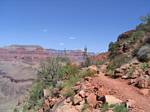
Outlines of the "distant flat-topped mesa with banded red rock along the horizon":
M0 61L38 62L56 56L67 56L73 61L83 61L82 50L45 49L38 45L10 45L0 48Z

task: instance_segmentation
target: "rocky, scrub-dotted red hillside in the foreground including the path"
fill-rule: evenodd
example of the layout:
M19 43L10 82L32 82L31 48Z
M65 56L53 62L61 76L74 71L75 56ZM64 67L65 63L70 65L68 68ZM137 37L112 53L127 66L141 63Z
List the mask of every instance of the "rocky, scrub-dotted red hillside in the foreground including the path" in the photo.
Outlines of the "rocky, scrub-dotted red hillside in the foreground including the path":
M119 35L88 67L51 58L15 112L149 112L150 16ZM89 61L90 59L90 61Z

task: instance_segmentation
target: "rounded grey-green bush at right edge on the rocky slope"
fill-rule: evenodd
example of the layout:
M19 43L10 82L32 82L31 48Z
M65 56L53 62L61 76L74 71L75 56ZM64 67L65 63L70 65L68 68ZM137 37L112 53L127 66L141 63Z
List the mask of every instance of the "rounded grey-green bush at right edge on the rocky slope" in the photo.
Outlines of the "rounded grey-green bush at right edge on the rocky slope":
M150 60L150 44L143 45L137 52L137 58L140 61L147 62Z

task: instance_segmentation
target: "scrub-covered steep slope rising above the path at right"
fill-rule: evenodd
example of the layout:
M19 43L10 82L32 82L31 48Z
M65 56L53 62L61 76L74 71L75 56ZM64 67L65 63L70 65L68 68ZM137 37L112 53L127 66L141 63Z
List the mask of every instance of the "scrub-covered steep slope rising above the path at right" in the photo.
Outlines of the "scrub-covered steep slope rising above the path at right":
M141 20L142 23L135 30L121 34L116 42L109 44L109 74L112 75L116 68L130 62L132 58L142 63L150 61L150 15Z

